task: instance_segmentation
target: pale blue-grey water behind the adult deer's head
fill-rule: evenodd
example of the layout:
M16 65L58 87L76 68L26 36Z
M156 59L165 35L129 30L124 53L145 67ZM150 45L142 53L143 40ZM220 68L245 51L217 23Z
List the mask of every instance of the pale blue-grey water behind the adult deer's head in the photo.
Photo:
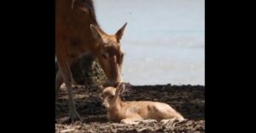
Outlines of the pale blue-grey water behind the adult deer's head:
M95 0L102 29L121 43L132 85L205 85L204 0Z

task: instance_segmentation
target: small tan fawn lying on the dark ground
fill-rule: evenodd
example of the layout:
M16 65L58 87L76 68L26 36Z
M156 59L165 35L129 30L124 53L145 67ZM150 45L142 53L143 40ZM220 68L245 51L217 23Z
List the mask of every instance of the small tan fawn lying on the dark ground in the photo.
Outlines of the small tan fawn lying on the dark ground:
M121 86L117 88L108 86L102 91L102 105L107 108L108 119L112 122L136 124L145 119L155 119L159 122L167 119L178 119L179 121L184 119L181 114L166 103L151 101L123 102L119 98L122 91L123 87Z

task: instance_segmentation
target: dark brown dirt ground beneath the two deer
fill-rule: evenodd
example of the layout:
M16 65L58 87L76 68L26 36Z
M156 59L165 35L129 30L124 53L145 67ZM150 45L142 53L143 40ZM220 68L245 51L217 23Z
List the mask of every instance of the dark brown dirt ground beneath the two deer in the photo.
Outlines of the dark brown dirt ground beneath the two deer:
M97 86L73 86L77 110L84 123L55 124L55 132L65 133L204 133L205 132L205 87L204 86L131 86L126 84L122 99L124 101L158 101L168 103L187 119L183 122L170 121L166 124L146 120L138 125L110 123L106 109L102 107ZM55 103L55 117L68 116L67 90L61 88Z

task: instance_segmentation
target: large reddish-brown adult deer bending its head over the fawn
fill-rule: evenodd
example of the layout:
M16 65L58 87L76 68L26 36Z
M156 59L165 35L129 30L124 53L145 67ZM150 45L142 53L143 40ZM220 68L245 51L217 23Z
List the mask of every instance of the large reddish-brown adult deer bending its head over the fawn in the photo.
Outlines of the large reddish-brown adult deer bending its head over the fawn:
M55 93L65 83L69 98L69 118L82 120L73 102L70 66L83 53L96 56L109 83L122 81L124 53L120 47L125 25L114 35L105 33L96 21L92 0L55 0L55 56L59 70L55 79Z

